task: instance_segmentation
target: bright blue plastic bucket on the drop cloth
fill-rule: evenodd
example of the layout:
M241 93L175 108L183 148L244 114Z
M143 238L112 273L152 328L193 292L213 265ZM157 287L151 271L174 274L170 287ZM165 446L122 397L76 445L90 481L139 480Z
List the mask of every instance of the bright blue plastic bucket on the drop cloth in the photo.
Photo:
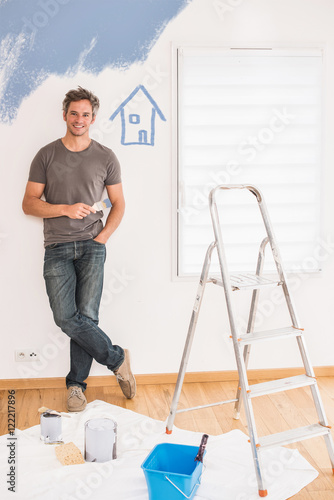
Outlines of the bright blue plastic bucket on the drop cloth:
M196 461L198 446L157 444L141 467L150 500L189 500L200 485L203 464Z

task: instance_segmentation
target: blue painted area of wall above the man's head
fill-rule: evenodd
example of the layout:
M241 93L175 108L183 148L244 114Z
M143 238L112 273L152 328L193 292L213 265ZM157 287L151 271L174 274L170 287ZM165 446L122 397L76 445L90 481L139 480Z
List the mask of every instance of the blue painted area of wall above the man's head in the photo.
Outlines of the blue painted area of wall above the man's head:
M48 75L144 60L187 0L0 0L0 121ZM1 78L1 76L0 76Z

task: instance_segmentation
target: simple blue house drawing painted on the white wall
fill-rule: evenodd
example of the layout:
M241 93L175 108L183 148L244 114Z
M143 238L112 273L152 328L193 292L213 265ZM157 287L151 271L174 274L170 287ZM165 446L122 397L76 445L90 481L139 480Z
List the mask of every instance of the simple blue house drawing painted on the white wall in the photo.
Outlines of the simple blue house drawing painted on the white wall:
M132 101L133 99L134 101ZM137 100L137 103L135 100ZM146 101L144 110L140 114L136 113L136 106L138 106L138 103L142 105L143 101ZM143 85L138 85L131 92L129 97L118 106L109 120L114 120L119 113L122 122L121 144L124 146L131 146L132 144L154 146L156 115L163 121L166 121L166 118Z

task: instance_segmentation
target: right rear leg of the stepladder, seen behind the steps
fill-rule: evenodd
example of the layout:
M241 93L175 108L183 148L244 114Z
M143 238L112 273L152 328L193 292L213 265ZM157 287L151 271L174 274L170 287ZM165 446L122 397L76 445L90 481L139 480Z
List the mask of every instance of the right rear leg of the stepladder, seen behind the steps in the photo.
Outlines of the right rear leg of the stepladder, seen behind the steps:
M258 259L257 259L256 272L255 272L255 274L257 276L261 276L262 271L263 271L264 253L265 253L265 248L266 248L266 245L268 244L268 241L269 241L269 238L266 236L262 240L260 248L259 248L259 255L258 255ZM254 330L254 323L255 323L255 317L256 317L256 311L257 311L257 304L259 301L259 295L260 295L259 288L256 288L255 290L253 290L246 333L251 333ZM251 351L251 345L250 344L245 345L243 356L244 356L244 362L245 362L246 369L248 366L250 351ZM240 391L240 380L239 380L237 394L236 394L237 401L234 405L233 418L235 420L238 420L240 417L240 410L241 410L241 404L242 404L242 399L240 396L241 396L241 391Z

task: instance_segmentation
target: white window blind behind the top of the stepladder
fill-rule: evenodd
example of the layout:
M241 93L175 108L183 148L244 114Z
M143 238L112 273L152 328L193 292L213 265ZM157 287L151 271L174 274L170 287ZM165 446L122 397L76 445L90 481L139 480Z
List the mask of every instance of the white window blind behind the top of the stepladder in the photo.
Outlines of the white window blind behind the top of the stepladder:
M320 268L321 110L320 49L178 49L179 276L201 271L214 239L208 194L218 184L257 186L285 268ZM256 199L245 193L219 199L237 272L254 271L265 236Z

